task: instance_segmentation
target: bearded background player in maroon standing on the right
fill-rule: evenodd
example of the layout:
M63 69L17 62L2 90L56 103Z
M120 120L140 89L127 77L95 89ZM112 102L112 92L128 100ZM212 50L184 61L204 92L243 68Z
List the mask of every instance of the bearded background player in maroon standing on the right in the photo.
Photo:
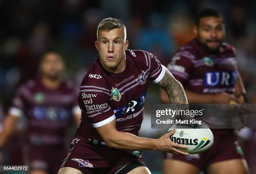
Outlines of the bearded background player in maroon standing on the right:
M172 58L168 69L184 86L189 103L243 103L243 82L237 70L234 47L223 42L222 15L212 9L198 13L194 29L197 38ZM161 100L169 103L161 90ZM167 154L164 174L246 174L246 163L237 151L233 129L212 129L214 144L202 154L181 157Z

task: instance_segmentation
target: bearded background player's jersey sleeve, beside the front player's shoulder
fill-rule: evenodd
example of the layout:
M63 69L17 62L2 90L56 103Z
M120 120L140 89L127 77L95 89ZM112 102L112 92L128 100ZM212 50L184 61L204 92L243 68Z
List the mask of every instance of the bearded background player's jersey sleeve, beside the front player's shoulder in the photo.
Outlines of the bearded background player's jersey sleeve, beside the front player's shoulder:
M182 52L178 52L174 55L171 62L167 65L167 69L182 85L189 79L189 74L193 67L194 63L191 58Z

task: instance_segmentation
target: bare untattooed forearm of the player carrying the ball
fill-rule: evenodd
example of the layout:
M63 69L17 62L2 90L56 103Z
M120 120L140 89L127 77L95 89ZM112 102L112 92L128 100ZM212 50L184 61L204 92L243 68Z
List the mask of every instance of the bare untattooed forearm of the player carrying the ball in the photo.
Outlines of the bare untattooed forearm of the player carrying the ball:
M149 139L143 137L137 137L136 135L128 132L115 133L107 140L108 147L122 150L158 150L156 146L157 139Z

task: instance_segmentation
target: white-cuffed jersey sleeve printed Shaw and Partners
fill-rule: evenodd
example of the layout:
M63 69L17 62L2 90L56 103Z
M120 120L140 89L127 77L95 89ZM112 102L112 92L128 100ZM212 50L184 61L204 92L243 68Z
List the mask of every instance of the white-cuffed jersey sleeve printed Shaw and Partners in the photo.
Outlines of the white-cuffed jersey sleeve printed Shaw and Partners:
M81 86L79 106L82 115L86 116L93 127L101 127L115 119L113 109L109 105L110 90L98 86Z

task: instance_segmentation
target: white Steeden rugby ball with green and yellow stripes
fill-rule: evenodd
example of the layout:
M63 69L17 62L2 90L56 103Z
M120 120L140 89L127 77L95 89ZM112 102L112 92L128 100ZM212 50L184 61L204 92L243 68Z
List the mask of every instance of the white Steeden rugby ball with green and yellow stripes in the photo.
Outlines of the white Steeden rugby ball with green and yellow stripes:
M187 146L187 149L180 149L189 154L199 154L208 150L213 144L212 131L204 124L174 124L168 132L176 129L170 139L177 143Z

